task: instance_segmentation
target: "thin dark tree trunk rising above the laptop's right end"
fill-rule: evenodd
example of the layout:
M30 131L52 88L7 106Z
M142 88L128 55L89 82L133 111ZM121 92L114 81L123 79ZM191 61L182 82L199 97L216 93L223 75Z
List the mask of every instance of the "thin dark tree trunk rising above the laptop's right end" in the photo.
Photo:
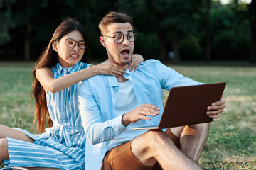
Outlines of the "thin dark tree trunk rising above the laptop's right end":
M206 2L206 61L211 59L211 42L210 42L210 1Z

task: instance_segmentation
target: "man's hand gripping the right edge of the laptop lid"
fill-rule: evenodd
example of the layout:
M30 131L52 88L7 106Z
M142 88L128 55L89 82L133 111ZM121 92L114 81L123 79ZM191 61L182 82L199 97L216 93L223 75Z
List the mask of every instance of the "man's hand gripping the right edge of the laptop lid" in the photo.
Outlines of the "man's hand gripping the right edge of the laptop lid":
M209 115L210 118L219 118L220 115L223 113L225 108L225 100L223 98L220 101L216 101L211 104L211 106L207 107L206 114Z

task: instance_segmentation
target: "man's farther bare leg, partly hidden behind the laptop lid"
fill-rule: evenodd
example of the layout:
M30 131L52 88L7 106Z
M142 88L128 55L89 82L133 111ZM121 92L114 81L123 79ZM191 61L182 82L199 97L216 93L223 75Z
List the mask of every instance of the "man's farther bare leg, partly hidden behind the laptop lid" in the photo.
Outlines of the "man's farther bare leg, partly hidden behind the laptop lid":
M203 147L206 145L209 123L171 128L171 132L180 137L181 152L193 159L194 162L198 162Z

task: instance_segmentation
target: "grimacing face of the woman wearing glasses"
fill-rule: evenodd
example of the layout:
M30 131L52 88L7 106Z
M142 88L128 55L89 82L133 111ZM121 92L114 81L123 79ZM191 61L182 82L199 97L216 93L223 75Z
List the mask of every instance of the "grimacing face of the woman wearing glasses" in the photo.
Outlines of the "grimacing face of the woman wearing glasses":
M67 39L68 40L65 40ZM75 41L73 41L75 40ZM85 49L81 49L82 44L85 42L80 42L84 40L82 34L78 30L73 30L72 32L66 34L58 42L53 42L53 50L58 52L58 61L62 67L72 67L77 64L85 52ZM71 42L75 42L74 47ZM80 44L80 47L78 46Z

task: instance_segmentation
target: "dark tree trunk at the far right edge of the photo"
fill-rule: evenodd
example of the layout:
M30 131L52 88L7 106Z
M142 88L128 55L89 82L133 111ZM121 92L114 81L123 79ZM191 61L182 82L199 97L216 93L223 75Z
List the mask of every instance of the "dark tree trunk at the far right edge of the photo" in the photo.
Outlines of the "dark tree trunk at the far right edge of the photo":
M252 49L250 62L256 62L256 0L252 0L250 7L250 29L252 35Z

